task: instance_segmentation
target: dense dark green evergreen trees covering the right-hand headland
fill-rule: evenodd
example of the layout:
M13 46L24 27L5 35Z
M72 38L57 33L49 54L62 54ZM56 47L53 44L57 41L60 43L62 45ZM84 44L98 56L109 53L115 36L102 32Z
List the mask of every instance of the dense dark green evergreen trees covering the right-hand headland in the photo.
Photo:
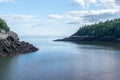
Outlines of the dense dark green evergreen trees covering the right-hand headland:
M77 36L115 36L120 37L120 19L107 20L106 22L99 22L92 25L80 27L74 34Z

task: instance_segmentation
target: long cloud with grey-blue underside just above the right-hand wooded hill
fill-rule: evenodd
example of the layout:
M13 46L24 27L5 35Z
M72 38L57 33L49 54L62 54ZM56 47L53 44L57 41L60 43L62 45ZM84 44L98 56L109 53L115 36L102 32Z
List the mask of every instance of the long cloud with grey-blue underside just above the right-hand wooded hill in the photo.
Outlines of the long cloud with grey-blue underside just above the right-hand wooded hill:
M120 17L119 13L119 9L68 11L62 15L63 18L61 21L67 24L91 24L107 19L118 18Z

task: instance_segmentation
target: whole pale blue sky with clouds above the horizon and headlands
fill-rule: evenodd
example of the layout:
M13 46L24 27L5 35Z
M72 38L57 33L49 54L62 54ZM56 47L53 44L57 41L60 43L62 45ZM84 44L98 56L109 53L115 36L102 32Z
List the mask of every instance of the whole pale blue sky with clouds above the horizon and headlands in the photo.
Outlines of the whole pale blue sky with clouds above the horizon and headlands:
M70 36L120 18L120 0L0 0L0 18L19 35Z

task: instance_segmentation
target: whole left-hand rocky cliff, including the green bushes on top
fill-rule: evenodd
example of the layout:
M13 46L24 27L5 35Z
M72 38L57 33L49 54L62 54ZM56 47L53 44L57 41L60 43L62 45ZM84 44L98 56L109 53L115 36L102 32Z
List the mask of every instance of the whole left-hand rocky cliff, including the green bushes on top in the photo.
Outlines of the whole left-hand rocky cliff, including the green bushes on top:
M10 31L6 22L0 18L0 56L14 56L37 50L28 42L20 42L17 33Z

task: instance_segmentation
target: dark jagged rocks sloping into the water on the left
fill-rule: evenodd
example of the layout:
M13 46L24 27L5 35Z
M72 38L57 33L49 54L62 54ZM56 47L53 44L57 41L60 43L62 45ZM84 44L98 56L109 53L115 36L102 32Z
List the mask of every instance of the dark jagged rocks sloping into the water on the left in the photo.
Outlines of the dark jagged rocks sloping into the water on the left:
M15 56L37 50L32 44L19 41L18 35L12 31L6 39L0 39L0 56Z

